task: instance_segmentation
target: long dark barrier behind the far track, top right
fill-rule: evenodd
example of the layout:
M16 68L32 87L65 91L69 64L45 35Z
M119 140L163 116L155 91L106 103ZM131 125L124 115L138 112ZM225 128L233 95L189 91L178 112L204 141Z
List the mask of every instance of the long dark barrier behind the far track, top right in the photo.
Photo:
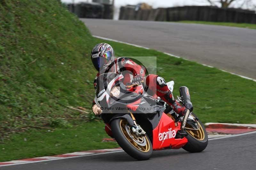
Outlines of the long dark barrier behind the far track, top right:
M254 11L213 6L183 6L135 11L135 6L129 5L121 7L119 19L150 21L192 20L255 24L256 14Z

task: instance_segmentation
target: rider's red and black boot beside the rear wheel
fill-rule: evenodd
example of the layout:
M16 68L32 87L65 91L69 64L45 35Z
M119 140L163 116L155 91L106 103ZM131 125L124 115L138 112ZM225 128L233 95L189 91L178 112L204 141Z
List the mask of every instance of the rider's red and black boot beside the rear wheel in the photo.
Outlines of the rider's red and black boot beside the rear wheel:
M166 93L163 97L161 97L161 99L169 104L173 108L173 110L180 116L184 116L187 113L187 108L181 106L180 103L174 99L171 91Z

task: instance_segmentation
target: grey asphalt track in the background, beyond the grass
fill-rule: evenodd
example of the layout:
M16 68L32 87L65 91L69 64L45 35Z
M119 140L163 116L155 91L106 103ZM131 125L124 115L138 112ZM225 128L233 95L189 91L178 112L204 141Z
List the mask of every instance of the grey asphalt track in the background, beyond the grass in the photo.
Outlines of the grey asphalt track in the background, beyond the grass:
M256 79L256 30L155 21L81 20L92 35L171 53Z

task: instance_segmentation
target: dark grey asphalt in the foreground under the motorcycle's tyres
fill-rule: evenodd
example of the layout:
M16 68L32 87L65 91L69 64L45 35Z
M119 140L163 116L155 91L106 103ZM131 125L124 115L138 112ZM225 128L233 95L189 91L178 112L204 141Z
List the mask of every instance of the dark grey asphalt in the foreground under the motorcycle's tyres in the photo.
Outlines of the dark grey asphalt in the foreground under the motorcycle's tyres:
M183 149L154 151L151 159L137 161L125 152L114 152L79 158L52 160L12 166L1 170L254 170L256 166L256 133L210 140L200 153L188 153Z

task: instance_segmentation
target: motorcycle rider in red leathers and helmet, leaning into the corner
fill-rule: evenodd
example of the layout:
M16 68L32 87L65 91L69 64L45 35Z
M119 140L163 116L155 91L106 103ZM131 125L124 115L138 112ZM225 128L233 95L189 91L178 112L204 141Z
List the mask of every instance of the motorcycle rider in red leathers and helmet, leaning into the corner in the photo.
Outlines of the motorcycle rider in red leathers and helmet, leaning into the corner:
M157 96L159 96L168 105L170 105L173 110L180 116L186 114L187 108L181 106L180 103L174 99L172 92L166 85L164 78L153 74L146 76L145 67L136 64L129 58L119 57L116 59L114 49L109 44L97 44L92 49L91 60L95 69L99 71L94 80L95 89L97 88L96 80L100 74L106 72L123 74L124 71L130 71L132 72L132 76L130 76L130 74L124 74L124 84L128 82L137 84L141 80L144 80L145 89L149 89L150 91L155 92Z

